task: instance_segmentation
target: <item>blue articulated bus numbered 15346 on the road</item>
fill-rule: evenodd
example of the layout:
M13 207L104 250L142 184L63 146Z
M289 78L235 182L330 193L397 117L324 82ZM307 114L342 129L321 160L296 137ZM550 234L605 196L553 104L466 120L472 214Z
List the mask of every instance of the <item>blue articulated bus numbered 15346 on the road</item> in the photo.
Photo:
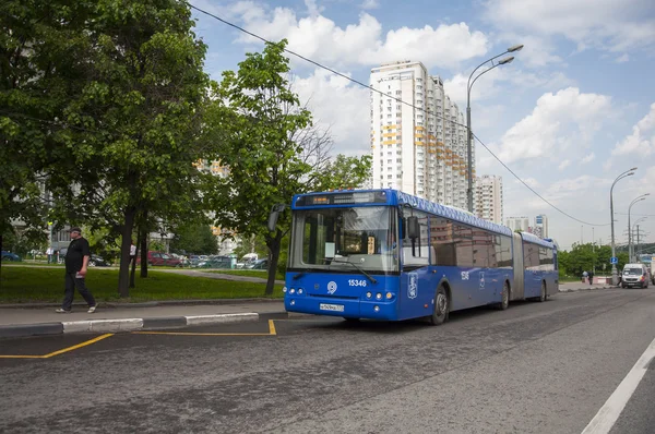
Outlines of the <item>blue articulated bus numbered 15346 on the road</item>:
M289 312L441 324L558 291L551 240L396 190L298 194L291 213Z

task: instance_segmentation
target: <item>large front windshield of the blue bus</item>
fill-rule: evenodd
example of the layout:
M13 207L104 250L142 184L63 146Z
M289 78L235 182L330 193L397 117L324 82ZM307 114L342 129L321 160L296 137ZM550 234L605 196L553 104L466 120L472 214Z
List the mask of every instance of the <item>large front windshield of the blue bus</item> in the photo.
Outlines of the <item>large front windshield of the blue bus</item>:
M388 206L294 213L290 268L397 272L396 213Z

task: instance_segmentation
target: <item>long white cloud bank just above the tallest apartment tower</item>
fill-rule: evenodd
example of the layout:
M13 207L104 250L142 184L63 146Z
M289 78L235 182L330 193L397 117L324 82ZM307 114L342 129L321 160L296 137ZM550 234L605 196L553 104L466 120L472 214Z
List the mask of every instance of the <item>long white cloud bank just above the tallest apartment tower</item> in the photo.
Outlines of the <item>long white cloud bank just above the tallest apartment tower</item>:
M288 48L301 56L331 65L378 65L396 60L420 60L429 65L456 69L460 62L487 52L488 39L472 32L465 23L401 27L382 33L382 25L362 12L357 24L340 27L319 12L313 0L307 0L309 16L298 17L287 8L270 10L253 2L238 2L233 13L241 16L248 31L270 39L287 38ZM240 36L239 43L257 43Z

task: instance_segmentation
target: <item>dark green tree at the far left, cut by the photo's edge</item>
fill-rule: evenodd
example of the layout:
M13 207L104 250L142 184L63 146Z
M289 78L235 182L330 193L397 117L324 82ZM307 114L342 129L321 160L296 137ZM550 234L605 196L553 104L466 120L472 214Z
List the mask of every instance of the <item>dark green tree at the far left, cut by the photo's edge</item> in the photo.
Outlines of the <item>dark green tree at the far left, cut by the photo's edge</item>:
M64 108L83 81L87 20L81 0L0 3L0 245L13 219L45 230L48 170L67 164Z

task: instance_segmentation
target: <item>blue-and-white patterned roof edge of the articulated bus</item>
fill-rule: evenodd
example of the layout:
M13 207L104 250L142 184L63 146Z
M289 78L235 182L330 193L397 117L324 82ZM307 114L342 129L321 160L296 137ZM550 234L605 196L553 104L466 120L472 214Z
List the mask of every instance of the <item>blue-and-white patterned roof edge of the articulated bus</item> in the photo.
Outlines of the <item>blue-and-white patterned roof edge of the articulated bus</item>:
M417 197L414 196L412 194L407 194L407 193L403 193L401 191L397 190L392 190L392 189L379 189L379 190L337 190L337 191L333 191L333 192L321 192L321 193L307 193L307 194L296 194L294 196L294 201L291 203L291 208L294 209L300 209L300 208L307 208L309 206L297 206L298 200L300 197L303 196L315 196L315 195L347 195L347 194L356 194L356 193L380 193L378 195L376 195L376 201L371 201L369 204L370 205L381 205L381 204L386 204L386 205L409 205L416 209L420 209L430 214L437 214L439 216L445 217L448 219L451 220L455 220L465 225L471 225L477 228L481 228L481 229L486 229L492 232L497 232L497 233L502 233L505 236L511 237L512 236L512 230L508 227L501 226L501 225L497 225L495 222L491 221L487 221L487 220L483 220L481 218L476 217L475 215L473 215L472 213L468 213L467 210L464 209L460 209L460 208L455 208L453 206L449 206L449 205L442 205L442 204L438 204L434 202L429 202L428 200L421 198L421 197ZM384 200L381 200L381 197L384 197ZM352 205L367 205L367 203L365 202L342 202L340 201L341 205L332 205L332 206L352 206ZM326 205L326 204L325 204ZM323 207L325 205L313 205L312 207ZM534 237L534 236L533 236ZM537 240L539 240L537 237L535 237ZM544 241L543 245L548 245L547 242Z

